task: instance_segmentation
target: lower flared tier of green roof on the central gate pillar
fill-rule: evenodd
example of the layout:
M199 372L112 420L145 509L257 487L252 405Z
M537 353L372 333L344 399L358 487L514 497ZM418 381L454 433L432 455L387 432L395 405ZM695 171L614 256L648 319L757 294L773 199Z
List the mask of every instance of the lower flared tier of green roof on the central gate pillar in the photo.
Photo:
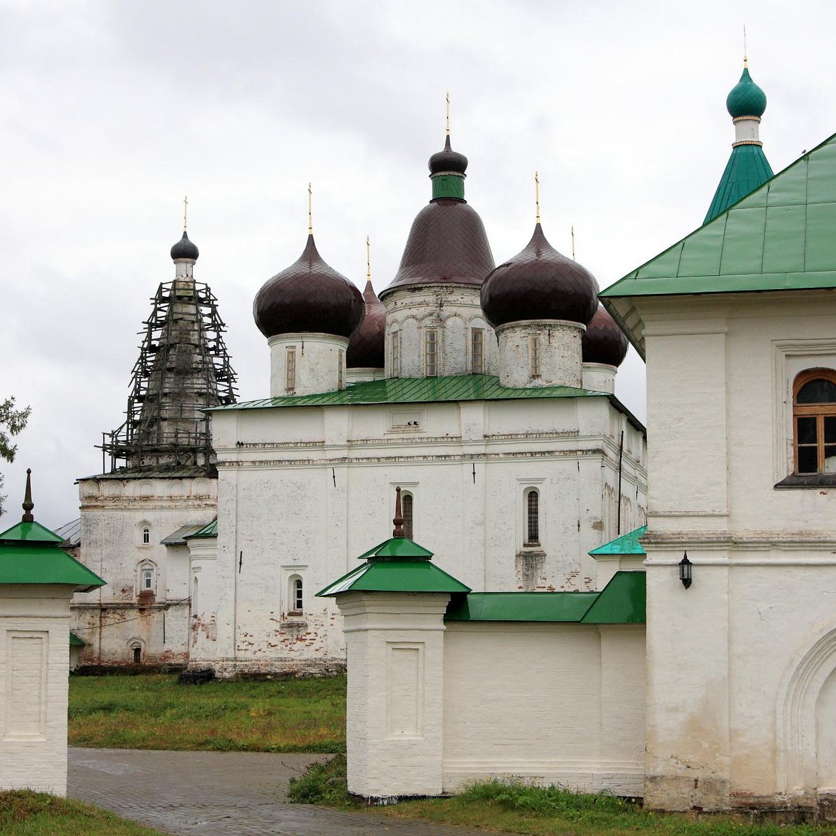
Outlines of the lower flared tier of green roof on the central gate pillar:
M375 560L363 563L317 593L329 598L344 592L470 592L470 587L429 560Z

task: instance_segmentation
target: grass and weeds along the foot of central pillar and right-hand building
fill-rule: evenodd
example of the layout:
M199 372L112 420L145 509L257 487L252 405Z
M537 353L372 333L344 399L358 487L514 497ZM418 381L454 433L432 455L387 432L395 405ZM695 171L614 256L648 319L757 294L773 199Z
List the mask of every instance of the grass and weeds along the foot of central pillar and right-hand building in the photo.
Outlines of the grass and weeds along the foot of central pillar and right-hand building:
M297 803L353 809L360 806L345 784L345 758L314 764L291 782ZM404 801L371 808L403 818L461 824L492 832L532 836L833 836L834 828L814 825L750 823L735 816L653 813L614 795L572 793L560 787L533 787L524 782L486 781L452 798Z

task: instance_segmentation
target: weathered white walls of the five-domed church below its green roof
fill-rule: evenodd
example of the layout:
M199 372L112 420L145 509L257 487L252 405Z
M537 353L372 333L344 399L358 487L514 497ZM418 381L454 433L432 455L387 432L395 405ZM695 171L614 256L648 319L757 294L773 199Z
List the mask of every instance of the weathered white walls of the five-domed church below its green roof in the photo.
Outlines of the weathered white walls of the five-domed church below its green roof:
M337 610L313 596L390 536L397 486L414 539L473 589L597 588L587 552L616 536L622 430L621 532L644 522L643 436L604 397L213 415L217 639L197 641L221 673L343 664ZM525 546L532 489L540 537Z

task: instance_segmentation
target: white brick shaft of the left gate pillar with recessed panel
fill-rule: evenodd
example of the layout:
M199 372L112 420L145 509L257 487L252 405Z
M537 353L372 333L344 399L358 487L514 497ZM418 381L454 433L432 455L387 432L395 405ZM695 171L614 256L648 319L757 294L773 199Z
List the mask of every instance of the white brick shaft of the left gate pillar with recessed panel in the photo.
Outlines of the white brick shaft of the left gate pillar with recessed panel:
M69 591L0 586L0 789L67 794Z

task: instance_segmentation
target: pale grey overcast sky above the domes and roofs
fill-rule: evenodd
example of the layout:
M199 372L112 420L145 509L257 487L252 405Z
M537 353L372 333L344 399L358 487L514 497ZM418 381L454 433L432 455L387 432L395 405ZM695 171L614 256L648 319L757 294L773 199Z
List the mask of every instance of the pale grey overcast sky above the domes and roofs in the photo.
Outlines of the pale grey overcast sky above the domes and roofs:
M538 169L546 235L571 252L573 225L606 287L700 225L744 23L779 171L836 131L833 3L0 0L0 399L33 410L0 464L0 528L26 467L40 522L78 516L74 480L100 471L149 299L174 275L184 194L240 398L262 397L252 298L302 252L308 181L319 252L362 287L369 235L385 288L450 90L497 263L528 242ZM632 349L617 391L644 419Z

